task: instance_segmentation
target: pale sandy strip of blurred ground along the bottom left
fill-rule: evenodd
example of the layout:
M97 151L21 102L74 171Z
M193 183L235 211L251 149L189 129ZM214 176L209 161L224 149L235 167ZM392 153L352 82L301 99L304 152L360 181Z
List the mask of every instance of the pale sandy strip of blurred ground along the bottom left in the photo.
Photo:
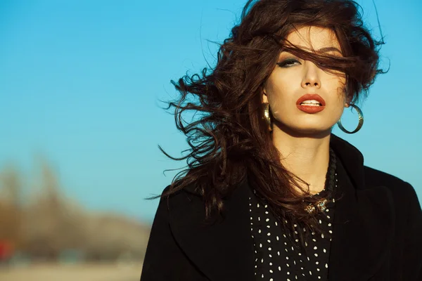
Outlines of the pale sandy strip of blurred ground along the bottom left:
M139 281L142 263L119 266L117 263L80 265L44 264L24 268L0 268L1 281Z

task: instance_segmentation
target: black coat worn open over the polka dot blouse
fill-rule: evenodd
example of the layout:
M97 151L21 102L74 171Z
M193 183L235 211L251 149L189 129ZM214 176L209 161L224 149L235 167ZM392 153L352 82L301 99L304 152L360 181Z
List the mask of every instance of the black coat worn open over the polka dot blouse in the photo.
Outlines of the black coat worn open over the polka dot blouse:
M331 136L344 197L335 201L330 281L422 280L422 211L409 183L364 166L362 154ZM245 181L225 200L223 221L205 225L193 190L162 199L141 281L252 281L253 245Z

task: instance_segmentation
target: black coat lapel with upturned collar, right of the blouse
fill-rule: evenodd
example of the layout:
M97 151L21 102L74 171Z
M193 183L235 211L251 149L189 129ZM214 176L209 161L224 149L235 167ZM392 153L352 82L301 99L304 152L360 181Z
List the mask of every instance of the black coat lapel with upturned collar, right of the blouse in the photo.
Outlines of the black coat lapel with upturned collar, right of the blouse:
M329 280L369 280L387 258L394 234L392 195L384 186L366 187L362 154L333 136L338 155Z

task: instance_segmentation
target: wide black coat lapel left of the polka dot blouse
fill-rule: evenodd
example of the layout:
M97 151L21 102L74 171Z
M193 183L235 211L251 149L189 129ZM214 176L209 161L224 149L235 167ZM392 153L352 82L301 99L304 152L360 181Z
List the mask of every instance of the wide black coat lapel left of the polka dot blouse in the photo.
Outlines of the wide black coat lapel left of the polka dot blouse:
M223 220L205 223L203 203L195 192L185 192L170 206L170 227L188 259L212 281L252 281L253 244L248 196L243 183L225 200Z

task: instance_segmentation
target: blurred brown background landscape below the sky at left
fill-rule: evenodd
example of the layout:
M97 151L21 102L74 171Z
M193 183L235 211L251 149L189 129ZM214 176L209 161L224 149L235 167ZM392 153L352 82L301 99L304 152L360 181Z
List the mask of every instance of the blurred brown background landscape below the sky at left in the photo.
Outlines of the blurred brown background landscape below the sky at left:
M0 167L0 280L138 280L150 226L70 200L43 163L34 192L17 169Z

